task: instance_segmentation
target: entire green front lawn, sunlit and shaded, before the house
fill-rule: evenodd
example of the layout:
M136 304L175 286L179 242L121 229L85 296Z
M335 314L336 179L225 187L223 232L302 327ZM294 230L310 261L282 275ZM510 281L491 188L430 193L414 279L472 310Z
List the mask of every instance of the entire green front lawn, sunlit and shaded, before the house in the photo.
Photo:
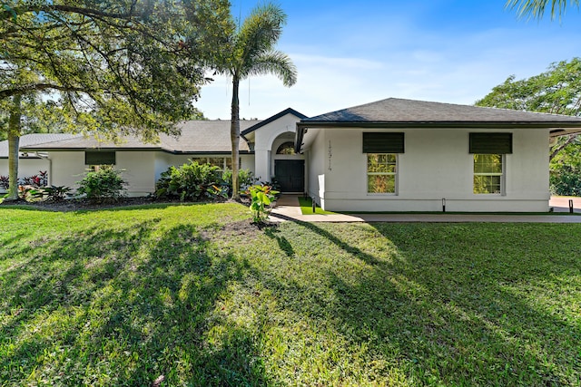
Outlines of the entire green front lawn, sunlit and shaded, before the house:
M248 217L0 207L0 384L581 383L581 225Z

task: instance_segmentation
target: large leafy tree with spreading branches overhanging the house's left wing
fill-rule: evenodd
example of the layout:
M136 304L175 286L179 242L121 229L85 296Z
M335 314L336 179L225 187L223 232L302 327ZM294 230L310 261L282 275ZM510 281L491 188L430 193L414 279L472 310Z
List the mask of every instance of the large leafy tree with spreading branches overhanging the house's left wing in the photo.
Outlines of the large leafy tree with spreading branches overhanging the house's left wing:
M177 134L191 116L224 0L13 0L0 8L0 111L17 168L24 96L57 101L65 129L109 140ZM222 12L222 14L221 14ZM186 15L197 15L195 18ZM190 23L187 23L191 20ZM17 174L11 171L10 175ZM15 179L11 179L11 187ZM15 198L15 189L10 189Z

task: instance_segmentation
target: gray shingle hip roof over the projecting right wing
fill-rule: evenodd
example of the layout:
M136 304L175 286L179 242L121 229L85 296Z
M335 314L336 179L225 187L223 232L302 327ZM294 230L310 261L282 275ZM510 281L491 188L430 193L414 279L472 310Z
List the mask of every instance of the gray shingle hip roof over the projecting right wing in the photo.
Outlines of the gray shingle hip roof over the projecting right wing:
M557 114L482 108L441 102L388 98L340 111L331 111L301 122L389 122L389 123L560 123L581 125L581 118Z

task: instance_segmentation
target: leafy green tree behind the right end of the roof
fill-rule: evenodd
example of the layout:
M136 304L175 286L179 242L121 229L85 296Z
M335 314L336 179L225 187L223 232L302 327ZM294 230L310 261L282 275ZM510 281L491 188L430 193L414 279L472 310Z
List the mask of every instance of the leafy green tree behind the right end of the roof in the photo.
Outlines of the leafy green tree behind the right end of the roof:
M476 105L581 116L581 59L551 63L547 72L523 80L510 75ZM578 142L576 134L561 136L551 149L550 159L568 144Z

